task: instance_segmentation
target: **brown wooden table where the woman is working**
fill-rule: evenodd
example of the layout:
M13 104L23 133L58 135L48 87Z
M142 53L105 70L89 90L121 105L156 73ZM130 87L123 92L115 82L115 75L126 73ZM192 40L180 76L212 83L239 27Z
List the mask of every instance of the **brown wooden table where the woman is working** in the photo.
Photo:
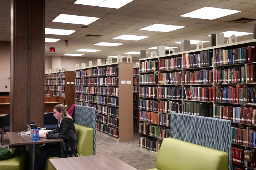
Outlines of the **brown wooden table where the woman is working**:
M15 145L30 145L30 169L35 170L35 157L36 157L36 149L35 144L43 144L43 143L55 143L55 142L63 142L63 139L39 139L38 141L33 142L32 138L24 139L20 135L19 132L6 132L9 137L10 144Z

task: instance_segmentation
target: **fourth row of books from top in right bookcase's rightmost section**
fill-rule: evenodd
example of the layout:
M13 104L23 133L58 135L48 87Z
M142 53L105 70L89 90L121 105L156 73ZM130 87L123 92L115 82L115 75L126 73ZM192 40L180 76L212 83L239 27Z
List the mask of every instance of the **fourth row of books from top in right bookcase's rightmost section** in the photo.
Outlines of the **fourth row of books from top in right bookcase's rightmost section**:
M256 109L252 106L236 107L215 105L213 117L230 120L232 122L256 124Z

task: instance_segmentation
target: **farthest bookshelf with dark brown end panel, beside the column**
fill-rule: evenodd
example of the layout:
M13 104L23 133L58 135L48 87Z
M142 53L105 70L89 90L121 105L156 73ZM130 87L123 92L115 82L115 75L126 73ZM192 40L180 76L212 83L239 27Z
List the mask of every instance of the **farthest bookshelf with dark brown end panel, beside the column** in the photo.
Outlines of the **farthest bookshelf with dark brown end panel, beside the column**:
M45 95L62 96L68 108L74 104L75 71L59 71L45 74Z

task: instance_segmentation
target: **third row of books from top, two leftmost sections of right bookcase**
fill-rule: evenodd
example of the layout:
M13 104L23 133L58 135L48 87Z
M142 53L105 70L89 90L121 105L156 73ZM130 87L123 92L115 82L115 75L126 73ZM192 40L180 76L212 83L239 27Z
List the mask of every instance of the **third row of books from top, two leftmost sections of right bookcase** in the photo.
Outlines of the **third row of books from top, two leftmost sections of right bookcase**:
M160 99L182 99L182 88L177 87L139 87L139 97Z

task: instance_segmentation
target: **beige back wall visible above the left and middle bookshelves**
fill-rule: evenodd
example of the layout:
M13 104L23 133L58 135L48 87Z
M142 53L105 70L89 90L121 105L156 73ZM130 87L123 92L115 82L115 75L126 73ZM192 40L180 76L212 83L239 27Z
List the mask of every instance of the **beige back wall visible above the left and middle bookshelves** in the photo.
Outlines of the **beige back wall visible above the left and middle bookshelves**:
M100 58L100 59L101 59L101 63L105 64L105 58ZM97 65L97 58L64 57L64 56L61 56L60 66L61 66L61 68L70 68L72 70L72 68L76 69L75 68L76 64L79 64L79 68L81 68L82 62L85 63L86 67L89 67L89 61L92 61L94 66ZM116 62L117 59L113 58L112 61ZM127 62L127 59L123 58L123 62ZM134 63L134 67L136 67L136 62L139 62L139 60L132 60L132 62ZM53 63L52 62L52 56L45 56L45 70L46 69L53 69L52 67L54 67L54 66L52 65L52 63Z

